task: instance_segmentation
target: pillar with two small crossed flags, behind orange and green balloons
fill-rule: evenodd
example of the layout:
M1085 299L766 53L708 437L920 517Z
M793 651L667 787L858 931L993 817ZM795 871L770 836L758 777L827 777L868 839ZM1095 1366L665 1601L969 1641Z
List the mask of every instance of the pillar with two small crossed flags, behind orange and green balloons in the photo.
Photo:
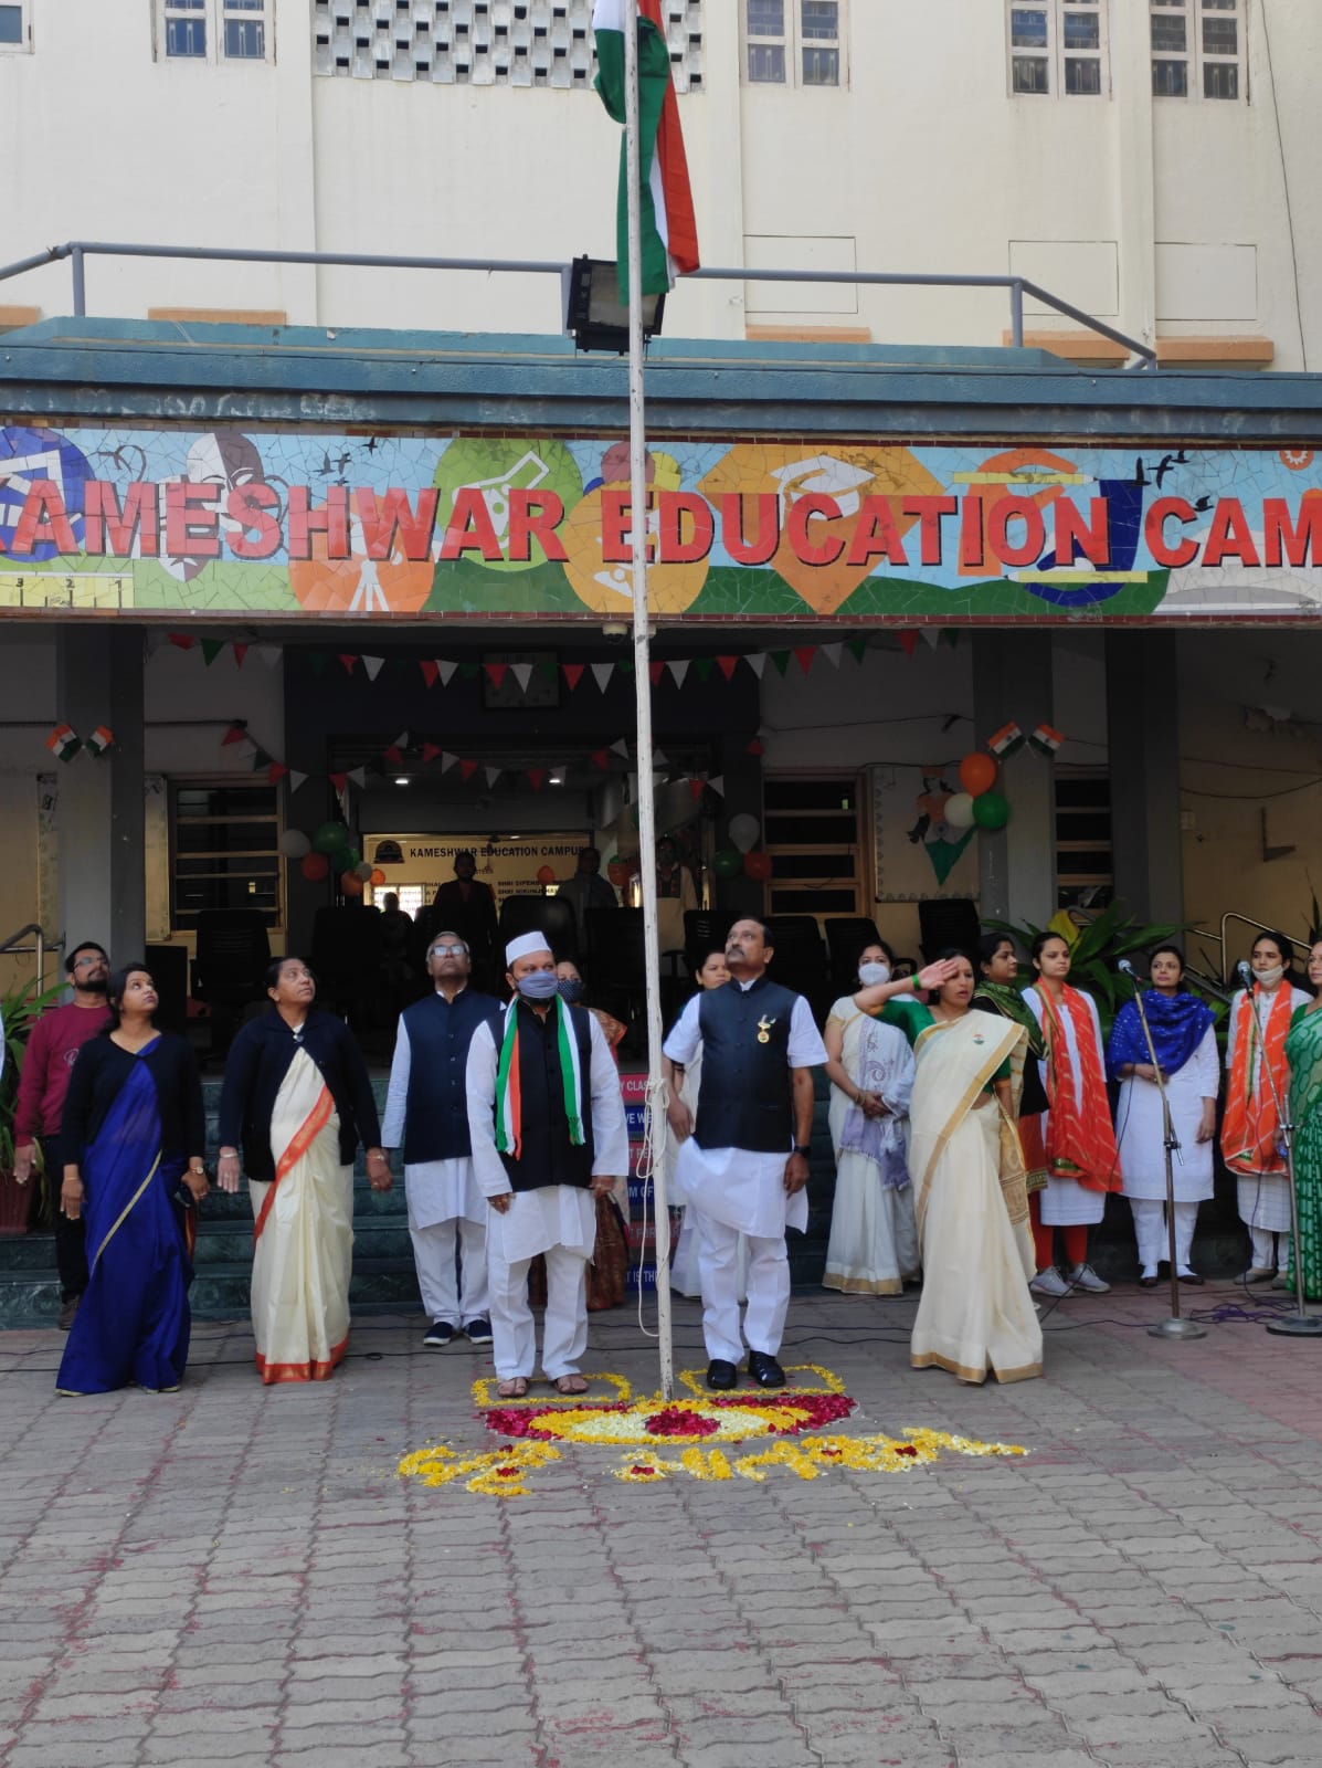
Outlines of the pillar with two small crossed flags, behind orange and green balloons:
M974 737L986 743L1013 720L1023 735L1052 723L1052 635L974 635ZM983 919L1032 921L1055 914L1055 766L1027 744L1000 764L1009 824L977 836Z

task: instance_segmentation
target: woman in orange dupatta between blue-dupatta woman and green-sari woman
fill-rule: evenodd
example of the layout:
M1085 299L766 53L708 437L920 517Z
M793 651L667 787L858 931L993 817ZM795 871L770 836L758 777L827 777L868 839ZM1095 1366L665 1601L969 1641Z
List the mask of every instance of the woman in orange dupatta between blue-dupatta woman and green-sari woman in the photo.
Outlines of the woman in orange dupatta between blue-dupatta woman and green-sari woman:
M1239 1220L1253 1241L1241 1282L1274 1282L1281 1289L1288 1287L1290 1268L1290 1179L1280 1146L1276 1096L1285 1100L1290 1084L1285 1061L1290 1020L1297 1008L1308 1006L1308 995L1290 981L1292 949L1285 934L1258 934L1253 941L1253 995L1241 988L1230 1002L1225 1048L1230 1080L1221 1121L1221 1158L1235 1174ZM1262 1064L1264 1045L1274 1093Z

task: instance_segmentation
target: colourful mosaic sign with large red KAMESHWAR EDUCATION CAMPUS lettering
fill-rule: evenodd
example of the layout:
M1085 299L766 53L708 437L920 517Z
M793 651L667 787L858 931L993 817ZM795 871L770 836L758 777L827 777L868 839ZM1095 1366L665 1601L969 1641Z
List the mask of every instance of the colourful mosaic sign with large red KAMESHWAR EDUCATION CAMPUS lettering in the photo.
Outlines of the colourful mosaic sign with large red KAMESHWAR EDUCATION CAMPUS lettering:
M619 438L0 428L0 615L629 615ZM1308 449L657 442L661 621L1322 613Z

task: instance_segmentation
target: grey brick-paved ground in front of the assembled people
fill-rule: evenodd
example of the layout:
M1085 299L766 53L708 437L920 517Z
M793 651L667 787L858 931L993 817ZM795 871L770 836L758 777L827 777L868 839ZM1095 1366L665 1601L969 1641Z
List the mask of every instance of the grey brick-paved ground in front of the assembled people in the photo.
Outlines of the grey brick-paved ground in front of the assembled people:
M4 1335L0 1761L1317 1768L1322 1345L1152 1340L1159 1294L1062 1303L1004 1390L910 1372L908 1301L795 1298L786 1361L859 1402L836 1429L1025 1459L638 1487L567 1448L505 1501L394 1476L495 1441L490 1363L414 1322L270 1391L201 1326L182 1393L92 1400L55 1398L55 1333ZM629 1312L592 1345L652 1386Z

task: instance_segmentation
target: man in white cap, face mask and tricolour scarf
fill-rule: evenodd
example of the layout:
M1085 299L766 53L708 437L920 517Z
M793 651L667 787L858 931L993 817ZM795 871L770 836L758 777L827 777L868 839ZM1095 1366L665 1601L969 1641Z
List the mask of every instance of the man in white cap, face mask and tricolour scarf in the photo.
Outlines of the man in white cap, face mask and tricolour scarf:
M491 1204L486 1268L500 1398L521 1398L536 1361L528 1266L546 1254L541 1367L585 1393L587 1261L596 1199L629 1170L620 1077L596 1018L560 999L544 934L505 946L514 999L468 1047L474 1174Z

